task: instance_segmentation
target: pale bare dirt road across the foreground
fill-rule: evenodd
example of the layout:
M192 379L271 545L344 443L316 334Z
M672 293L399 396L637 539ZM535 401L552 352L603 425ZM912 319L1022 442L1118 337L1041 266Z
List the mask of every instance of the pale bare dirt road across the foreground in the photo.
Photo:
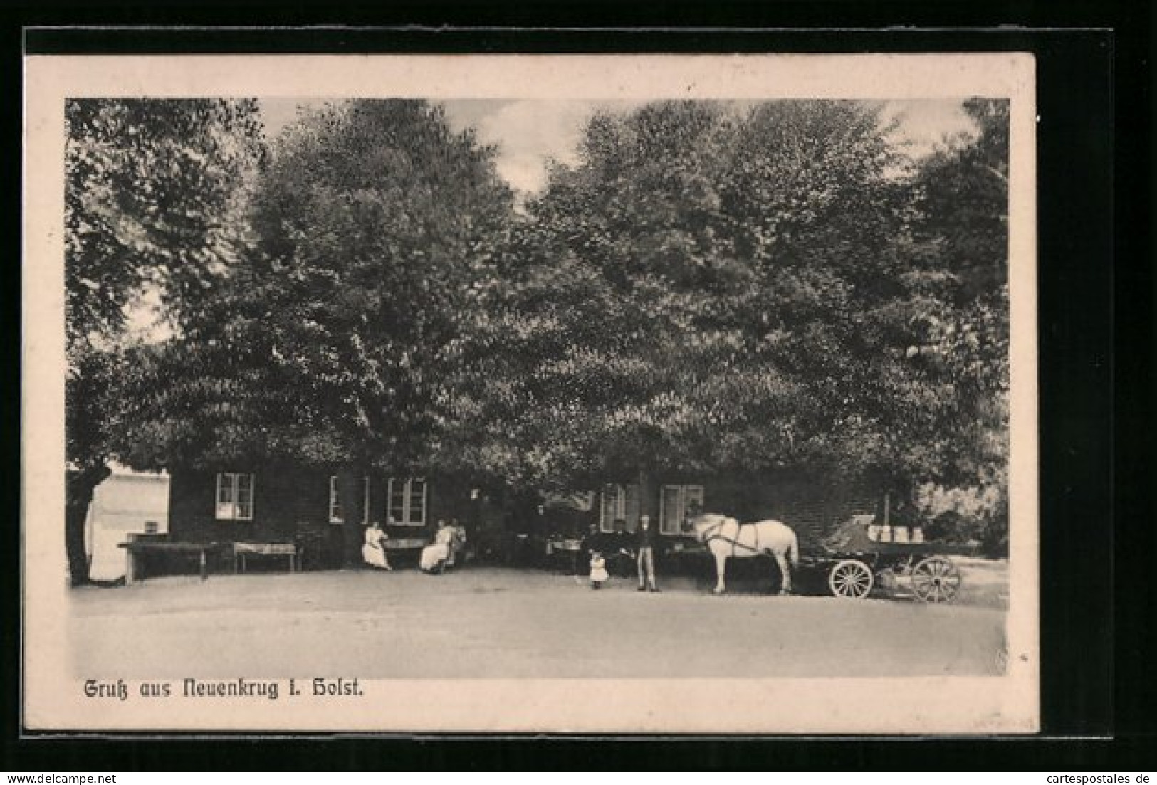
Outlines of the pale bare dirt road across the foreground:
M86 677L988 675L1004 613L529 570L162 578L73 592Z

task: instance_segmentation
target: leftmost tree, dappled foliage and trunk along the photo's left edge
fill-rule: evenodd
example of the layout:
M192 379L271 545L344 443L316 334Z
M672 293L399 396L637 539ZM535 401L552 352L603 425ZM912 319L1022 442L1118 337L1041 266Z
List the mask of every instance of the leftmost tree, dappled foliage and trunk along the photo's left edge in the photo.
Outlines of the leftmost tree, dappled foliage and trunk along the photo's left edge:
M76 98L65 105L66 543L88 580L83 524L108 476L127 314L145 291L169 319L236 257L231 220L260 156L250 99Z

